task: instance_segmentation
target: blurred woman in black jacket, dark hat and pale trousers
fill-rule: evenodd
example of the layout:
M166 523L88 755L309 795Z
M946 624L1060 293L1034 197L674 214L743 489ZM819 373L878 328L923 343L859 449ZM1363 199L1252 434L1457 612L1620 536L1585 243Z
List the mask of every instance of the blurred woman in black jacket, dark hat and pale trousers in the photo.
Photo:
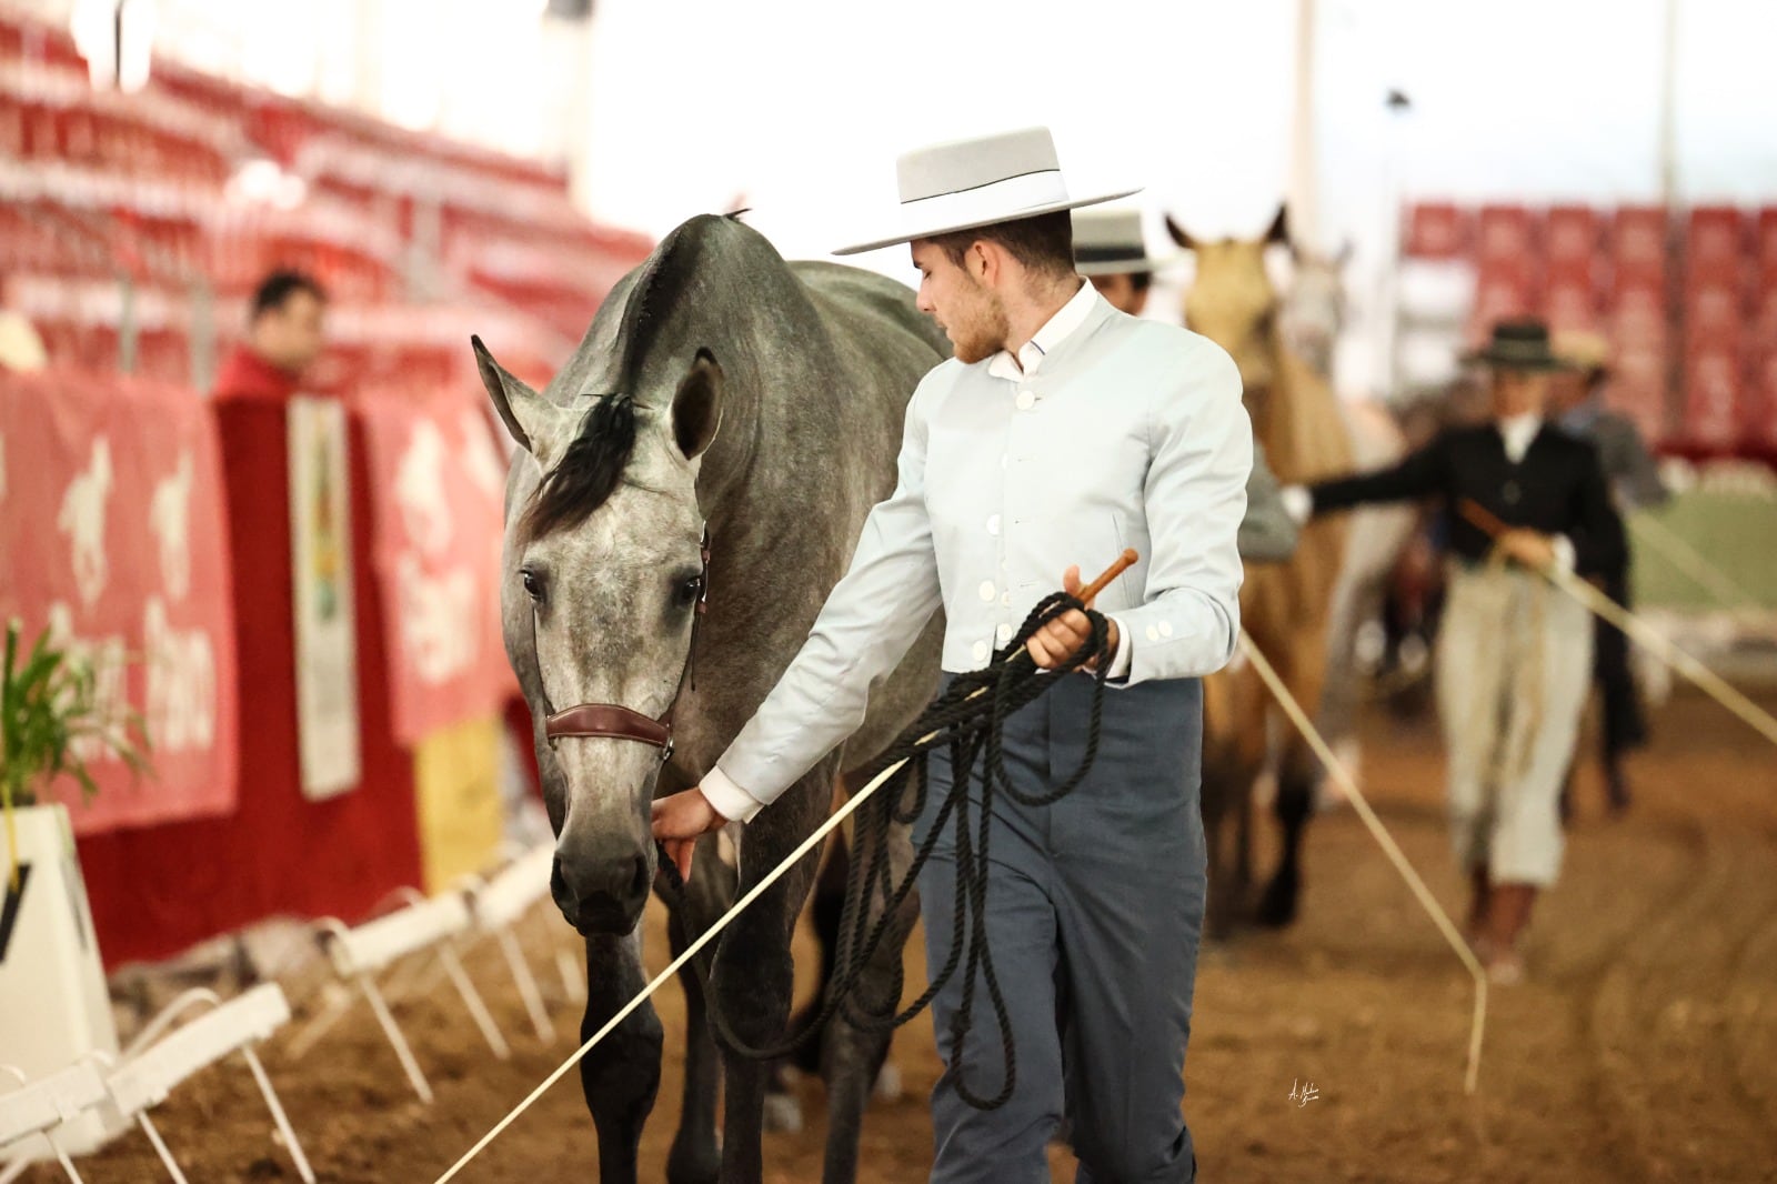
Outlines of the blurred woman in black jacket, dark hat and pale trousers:
M1544 421L1560 368L1548 327L1500 324L1470 361L1491 372L1489 423L1445 428L1393 468L1292 485L1283 498L1303 523L1409 498L1452 510L1438 638L1452 843L1475 889L1470 942L1493 981L1516 983L1535 896L1560 873L1558 798L1592 670L1585 606L1541 572L1599 578L1622 564L1624 542L1598 452ZM1489 535L1461 514L1466 501L1507 530Z

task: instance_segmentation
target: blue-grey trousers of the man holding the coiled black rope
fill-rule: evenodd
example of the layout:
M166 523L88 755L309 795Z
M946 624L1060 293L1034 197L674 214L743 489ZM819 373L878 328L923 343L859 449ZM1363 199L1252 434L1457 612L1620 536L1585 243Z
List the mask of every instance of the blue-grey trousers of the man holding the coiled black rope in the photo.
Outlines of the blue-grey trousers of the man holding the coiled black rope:
M1059 784L1084 756L1091 681L1064 677L1006 725L1008 775L1024 793ZM1047 1145L1063 1115L1080 1184L1196 1179L1182 1100L1203 932L1201 754L1201 684L1143 683L1107 692L1098 759L1070 796L1047 807L995 800L986 930L1018 1079L1000 1109L977 1111L958 1095L961 1079L993 1097L1006 1068L984 983L961 1056L952 1047L958 971L931 1008L945 1065L931 1093L935 1184L1047 1184ZM931 780L915 839L929 834L951 786L947 761L933 759ZM979 807L979 786L970 800ZM919 891L936 974L958 923L949 820Z

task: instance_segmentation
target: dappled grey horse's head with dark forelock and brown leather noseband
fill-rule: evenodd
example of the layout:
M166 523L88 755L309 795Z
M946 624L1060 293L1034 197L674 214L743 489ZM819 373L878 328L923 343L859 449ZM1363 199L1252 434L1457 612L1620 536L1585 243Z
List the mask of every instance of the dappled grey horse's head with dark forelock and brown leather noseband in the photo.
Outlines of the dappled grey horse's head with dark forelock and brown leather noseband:
M579 389L560 405L474 348L522 448L508 485L501 617L537 716L556 830L551 887L581 933L627 933L654 882L649 805L663 750L608 736L551 741L542 720L579 704L659 720L679 695L704 580L698 459L721 420L721 368L709 350L668 347L647 368L622 368L627 389ZM578 388L581 363L556 386Z

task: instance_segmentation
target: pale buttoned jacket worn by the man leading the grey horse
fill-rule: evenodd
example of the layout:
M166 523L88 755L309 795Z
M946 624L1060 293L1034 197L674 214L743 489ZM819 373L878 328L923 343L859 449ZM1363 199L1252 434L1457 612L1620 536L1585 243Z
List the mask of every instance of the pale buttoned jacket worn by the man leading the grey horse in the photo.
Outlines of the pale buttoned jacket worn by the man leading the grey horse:
M1089 580L1125 548L1141 560L1098 597L1120 633L1112 674L1219 670L1240 631L1251 464L1228 354L1118 313L1091 284L1016 357L940 364L908 404L894 494L704 795L750 820L857 731L871 684L940 606L944 668L979 670L1063 569Z

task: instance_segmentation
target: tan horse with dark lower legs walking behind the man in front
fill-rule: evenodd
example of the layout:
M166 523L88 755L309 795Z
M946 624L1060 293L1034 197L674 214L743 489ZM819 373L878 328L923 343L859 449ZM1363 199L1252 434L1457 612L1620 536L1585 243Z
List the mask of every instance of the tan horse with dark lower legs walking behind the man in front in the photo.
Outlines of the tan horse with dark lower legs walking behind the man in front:
M1171 219L1167 229L1178 245L1196 252L1198 261L1196 281L1185 295L1185 324L1228 350L1240 366L1253 434L1278 480L1301 485L1349 473L1351 434L1338 400L1327 382L1287 348L1278 290L1265 274L1265 249L1288 242L1285 213L1279 210L1271 231L1258 240L1196 242ZM1246 631L1310 715L1320 706L1326 681L1327 628L1343 551L1343 523L1315 519L1287 564L1247 564L1240 588ZM1265 764L1274 704L1251 665L1239 660L1205 681L1203 702L1208 932L1226 937L1246 912L1253 782ZM1306 741L1288 724L1281 724L1278 738L1276 816L1283 827L1283 852L1255 912L1256 921L1269 926L1295 919L1303 830L1320 773ZM1228 821L1235 823L1233 836Z

